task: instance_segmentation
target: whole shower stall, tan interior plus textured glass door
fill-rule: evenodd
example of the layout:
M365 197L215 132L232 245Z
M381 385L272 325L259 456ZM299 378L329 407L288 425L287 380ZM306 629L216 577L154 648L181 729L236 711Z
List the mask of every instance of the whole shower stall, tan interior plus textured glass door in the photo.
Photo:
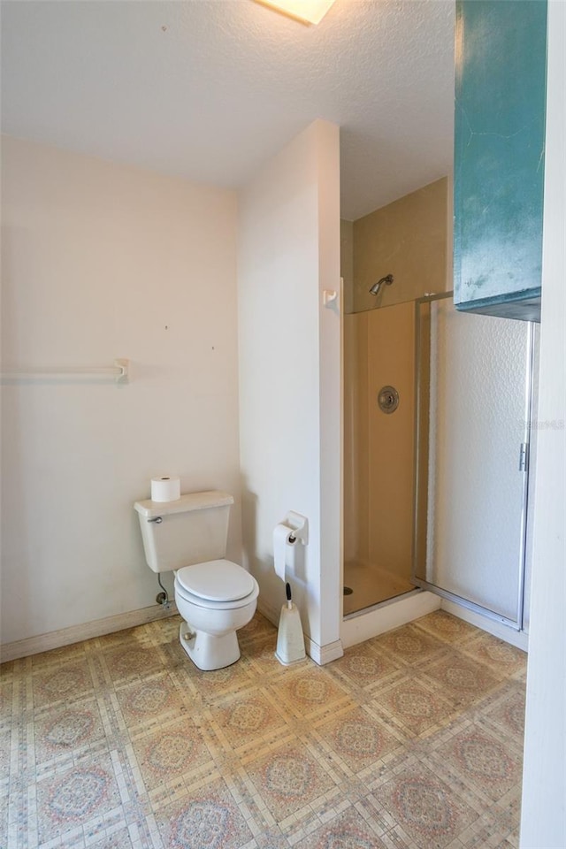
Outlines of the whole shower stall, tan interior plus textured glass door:
M455 310L443 181L390 207L342 234L343 616L430 590L528 630L538 327Z

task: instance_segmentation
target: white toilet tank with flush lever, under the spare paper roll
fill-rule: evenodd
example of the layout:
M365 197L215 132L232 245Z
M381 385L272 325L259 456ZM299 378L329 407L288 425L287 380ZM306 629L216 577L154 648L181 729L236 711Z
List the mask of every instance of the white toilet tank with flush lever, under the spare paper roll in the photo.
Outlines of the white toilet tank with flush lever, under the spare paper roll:
M176 501L136 501L149 569L167 572L226 555L233 496L212 490Z

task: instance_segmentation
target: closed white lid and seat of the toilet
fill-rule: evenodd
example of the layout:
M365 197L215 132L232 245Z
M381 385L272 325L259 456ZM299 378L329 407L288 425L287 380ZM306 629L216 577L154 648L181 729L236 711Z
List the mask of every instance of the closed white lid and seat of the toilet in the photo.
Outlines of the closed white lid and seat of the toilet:
M211 560L184 566L175 577L175 591L199 608L241 608L254 600L256 579L230 560Z

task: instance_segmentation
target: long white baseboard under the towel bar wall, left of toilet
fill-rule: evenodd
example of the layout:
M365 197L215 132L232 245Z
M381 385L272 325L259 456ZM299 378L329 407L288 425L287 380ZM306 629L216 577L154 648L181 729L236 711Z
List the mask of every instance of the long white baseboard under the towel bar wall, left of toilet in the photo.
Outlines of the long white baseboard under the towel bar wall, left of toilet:
M172 601L169 608L152 604L149 608L129 610L127 613L119 613L118 616L107 616L105 619L96 619L94 622L71 625L69 628L61 628L60 631L50 631L48 634L40 634L37 637L4 643L0 646L0 659L3 663L15 661L29 654L40 654L40 652L49 652L53 648L71 646L72 643L80 643L83 639L103 637L104 634L124 631L126 628L134 628L136 625L154 622L156 619L164 619L176 613L177 607Z

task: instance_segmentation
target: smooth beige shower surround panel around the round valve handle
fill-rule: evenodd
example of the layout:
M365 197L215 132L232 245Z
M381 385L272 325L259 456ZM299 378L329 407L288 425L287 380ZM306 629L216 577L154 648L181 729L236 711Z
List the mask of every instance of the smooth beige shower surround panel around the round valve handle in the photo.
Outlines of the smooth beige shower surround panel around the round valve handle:
M346 316L344 559L410 578L415 376L412 302ZM378 406L394 386L394 413Z

